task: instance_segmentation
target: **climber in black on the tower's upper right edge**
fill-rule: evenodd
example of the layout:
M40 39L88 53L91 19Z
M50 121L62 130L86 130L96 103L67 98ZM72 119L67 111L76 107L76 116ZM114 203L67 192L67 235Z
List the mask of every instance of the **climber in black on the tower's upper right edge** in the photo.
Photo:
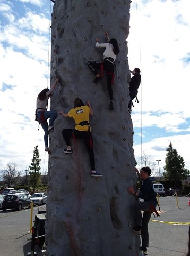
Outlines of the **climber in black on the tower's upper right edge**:
M139 68L135 68L133 71L130 71L133 76L128 86L128 92L130 96L130 101L128 103L128 111L131 114L132 100L136 97L138 93L139 86L141 84L141 70Z

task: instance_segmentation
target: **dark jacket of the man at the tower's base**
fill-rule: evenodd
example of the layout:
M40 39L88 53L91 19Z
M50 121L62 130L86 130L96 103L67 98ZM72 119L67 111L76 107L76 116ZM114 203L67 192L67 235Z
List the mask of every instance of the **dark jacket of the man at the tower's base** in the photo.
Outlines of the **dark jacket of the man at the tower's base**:
M138 197L143 199L145 202L152 202L154 206L157 205L157 198L154 193L150 177L148 179L142 180Z

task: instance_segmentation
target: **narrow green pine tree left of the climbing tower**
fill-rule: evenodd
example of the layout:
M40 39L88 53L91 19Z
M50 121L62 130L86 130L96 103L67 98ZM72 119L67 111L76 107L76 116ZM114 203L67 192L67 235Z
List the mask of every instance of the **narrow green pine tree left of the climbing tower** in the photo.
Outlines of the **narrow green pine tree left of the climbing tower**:
M29 166L30 169L30 185L33 186L33 192L36 190L36 188L39 187L40 180L41 180L41 172L40 171L40 161L39 159L39 150L38 150L38 145L34 147L33 151L33 158L32 158L32 163L31 166Z

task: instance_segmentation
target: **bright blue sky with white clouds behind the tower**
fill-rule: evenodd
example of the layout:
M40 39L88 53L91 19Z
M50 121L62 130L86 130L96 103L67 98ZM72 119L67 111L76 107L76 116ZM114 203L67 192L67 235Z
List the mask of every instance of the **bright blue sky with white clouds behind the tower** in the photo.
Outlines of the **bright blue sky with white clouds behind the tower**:
M50 0L0 0L0 169L31 164L38 144L46 170L43 131L34 121L36 97L48 85ZM129 68L141 69L134 102L135 157L150 155L165 165L171 141L190 169L190 1L133 0L128 41ZM157 162L158 163L158 162ZM156 163L156 164L157 164Z

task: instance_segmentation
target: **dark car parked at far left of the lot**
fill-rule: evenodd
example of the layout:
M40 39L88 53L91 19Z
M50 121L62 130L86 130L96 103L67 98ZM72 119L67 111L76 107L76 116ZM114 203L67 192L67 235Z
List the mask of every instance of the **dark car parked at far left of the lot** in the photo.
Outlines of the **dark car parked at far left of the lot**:
M31 200L24 193L14 193L6 195L3 203L2 210L6 211L6 209L14 208L16 210L21 210L25 207L30 207Z

